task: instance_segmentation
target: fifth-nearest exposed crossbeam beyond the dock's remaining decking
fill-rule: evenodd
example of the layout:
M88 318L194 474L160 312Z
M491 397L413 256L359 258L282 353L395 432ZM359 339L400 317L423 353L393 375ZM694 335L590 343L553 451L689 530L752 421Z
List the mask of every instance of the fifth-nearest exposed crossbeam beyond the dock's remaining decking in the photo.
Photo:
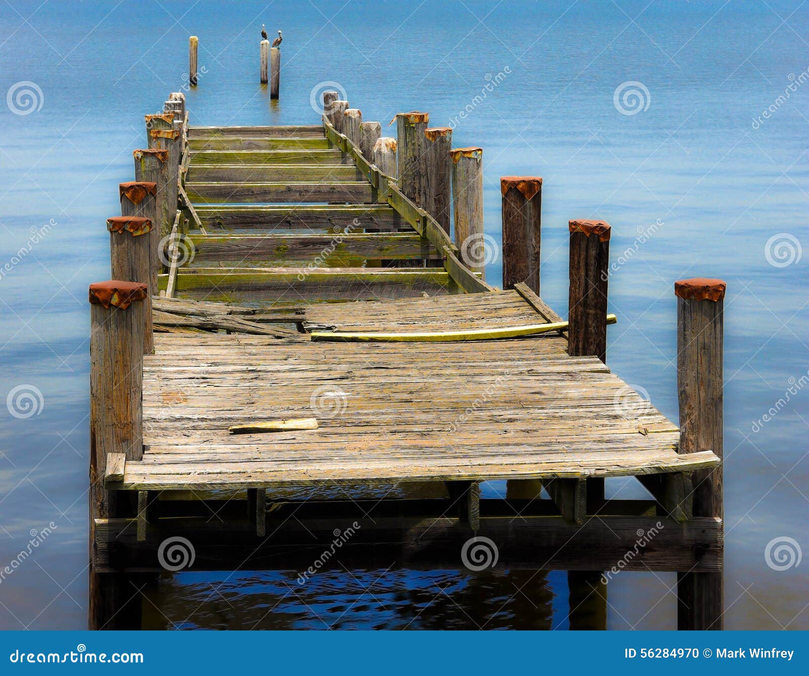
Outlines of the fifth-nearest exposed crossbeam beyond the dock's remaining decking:
M193 163L185 180L188 183L242 181L273 183L279 181L358 181L365 177L349 164L201 164Z

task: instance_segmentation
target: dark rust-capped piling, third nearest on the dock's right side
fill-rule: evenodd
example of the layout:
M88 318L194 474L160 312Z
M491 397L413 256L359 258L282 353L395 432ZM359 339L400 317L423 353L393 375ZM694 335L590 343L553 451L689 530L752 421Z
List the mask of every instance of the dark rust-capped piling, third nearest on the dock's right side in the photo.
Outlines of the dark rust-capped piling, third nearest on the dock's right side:
M542 179L502 176L503 289L523 281L540 295Z

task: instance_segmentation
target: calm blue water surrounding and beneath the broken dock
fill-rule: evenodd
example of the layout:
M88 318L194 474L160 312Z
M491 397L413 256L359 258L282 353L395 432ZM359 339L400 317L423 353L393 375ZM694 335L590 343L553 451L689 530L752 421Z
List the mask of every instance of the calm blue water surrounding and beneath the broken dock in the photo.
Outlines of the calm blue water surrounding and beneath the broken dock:
M284 32L277 105L257 83L261 23ZM383 125L413 109L447 125L470 106L454 144L485 149L496 241L499 176L544 178L548 302L566 306L569 218L611 223L613 261L631 251L610 280L619 322L608 363L674 420L672 283L725 279L726 626L809 628L809 564L765 560L773 539L809 550L807 28L803 2L6 3L0 94L34 82L41 95L27 115L11 111L25 110L13 91L0 104L0 395L42 399L28 418L0 407L0 565L28 549L32 529L53 533L0 580L0 627L86 623L87 284L108 278L116 184L133 177L143 114L184 86L196 34L205 72L186 92L192 124L315 123L311 91L328 81ZM633 115L613 100L625 82L645 87ZM500 275L499 261L489 265L489 281ZM797 391L777 404L791 383ZM773 420L755 425L773 406ZM637 496L624 481L608 491ZM284 598L295 575L167 577L154 623L567 626L564 572L328 573L303 600ZM618 576L608 627L673 627L674 582Z

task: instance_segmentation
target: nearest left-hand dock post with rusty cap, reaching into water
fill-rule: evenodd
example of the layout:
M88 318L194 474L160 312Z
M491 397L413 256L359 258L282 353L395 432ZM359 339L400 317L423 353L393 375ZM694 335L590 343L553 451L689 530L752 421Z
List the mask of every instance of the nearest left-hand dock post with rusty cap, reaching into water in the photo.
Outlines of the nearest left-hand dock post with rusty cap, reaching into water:
M90 285L90 629L115 629L127 603L140 604L125 578L95 571L95 519L119 516L116 494L104 488L108 454L143 457L143 332L146 284ZM130 627L131 628L131 627Z

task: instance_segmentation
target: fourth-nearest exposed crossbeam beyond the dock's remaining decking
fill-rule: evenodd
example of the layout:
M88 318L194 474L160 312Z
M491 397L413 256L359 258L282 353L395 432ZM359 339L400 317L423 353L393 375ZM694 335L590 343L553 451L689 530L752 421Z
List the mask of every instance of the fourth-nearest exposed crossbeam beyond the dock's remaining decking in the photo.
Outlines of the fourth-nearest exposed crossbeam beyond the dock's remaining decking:
M192 201L228 202L354 202L374 201L371 184L356 183L187 183Z

